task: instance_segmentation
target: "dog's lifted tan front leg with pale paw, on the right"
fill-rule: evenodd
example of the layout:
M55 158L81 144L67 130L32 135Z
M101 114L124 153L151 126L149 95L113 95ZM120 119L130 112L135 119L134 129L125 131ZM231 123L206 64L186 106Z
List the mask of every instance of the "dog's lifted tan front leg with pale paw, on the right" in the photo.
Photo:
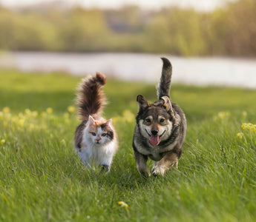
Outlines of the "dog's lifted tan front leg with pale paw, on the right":
M166 152L163 158L160 161L154 161L154 167L152 168L152 174L154 176L164 175L167 169L170 169L172 166L178 166L178 155L176 152Z

